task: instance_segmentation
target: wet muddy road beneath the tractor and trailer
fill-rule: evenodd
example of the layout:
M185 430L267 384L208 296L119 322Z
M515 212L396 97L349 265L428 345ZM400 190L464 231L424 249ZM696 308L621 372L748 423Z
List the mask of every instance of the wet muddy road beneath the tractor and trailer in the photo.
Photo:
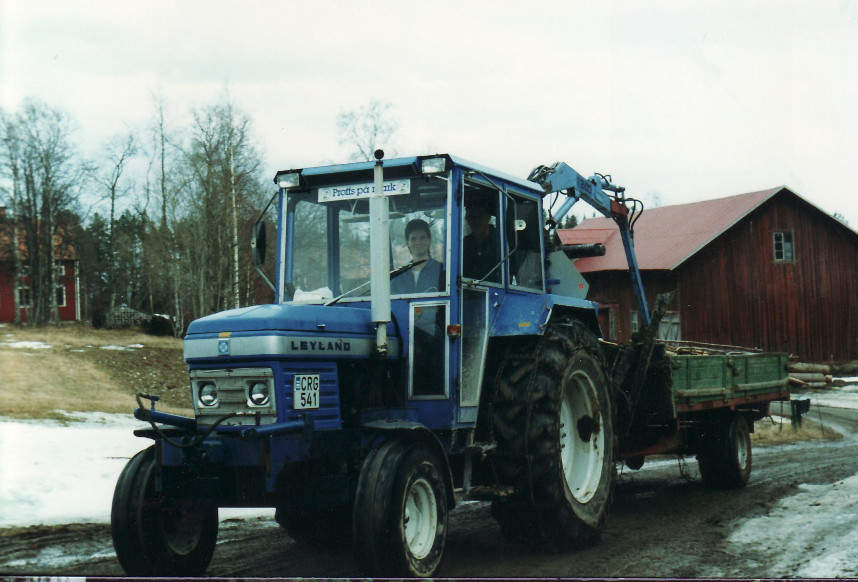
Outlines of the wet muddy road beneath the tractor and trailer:
M831 485L858 474L858 410L816 407L811 417L844 435L838 440L757 447L747 487L703 487L693 458L659 459L621 470L602 541L584 551L546 554L506 541L484 503L451 515L444 577L782 577L801 555L775 542L730 542L742 524L766 516L807 485ZM763 421L765 422L765 421ZM786 430L789 430L787 427ZM810 503L809 505L814 505ZM829 514L830 515L830 514ZM814 519L814 512L803 517ZM821 518L820 518L821 519ZM825 525L825 524L821 524ZM849 527L856 527L853 523ZM854 531L854 530L850 530ZM783 532L784 543L790 535ZM806 548L812 551L813 548ZM807 553L805 552L805 554ZM843 575L858 576L848 568ZM107 524L0 530L0 573L121 576ZM293 542L272 519L227 520L210 575L220 577L347 577L359 575L348 540L331 547Z

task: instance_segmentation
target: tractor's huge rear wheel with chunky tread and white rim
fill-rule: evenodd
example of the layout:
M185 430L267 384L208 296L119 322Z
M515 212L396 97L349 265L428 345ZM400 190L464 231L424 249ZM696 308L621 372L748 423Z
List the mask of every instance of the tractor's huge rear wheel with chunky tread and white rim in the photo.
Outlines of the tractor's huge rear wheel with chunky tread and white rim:
M609 380L595 336L551 325L531 349L511 346L493 402L495 466L513 495L492 515L505 535L548 550L599 539L614 485Z

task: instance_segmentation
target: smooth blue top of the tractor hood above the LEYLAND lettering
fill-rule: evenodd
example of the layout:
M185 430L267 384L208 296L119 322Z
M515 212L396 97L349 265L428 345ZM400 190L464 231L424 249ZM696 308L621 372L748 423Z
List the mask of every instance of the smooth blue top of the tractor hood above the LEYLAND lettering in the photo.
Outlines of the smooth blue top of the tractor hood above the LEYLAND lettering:
M368 308L286 303L231 309L188 326L188 335L255 331L366 335L375 333L375 325Z

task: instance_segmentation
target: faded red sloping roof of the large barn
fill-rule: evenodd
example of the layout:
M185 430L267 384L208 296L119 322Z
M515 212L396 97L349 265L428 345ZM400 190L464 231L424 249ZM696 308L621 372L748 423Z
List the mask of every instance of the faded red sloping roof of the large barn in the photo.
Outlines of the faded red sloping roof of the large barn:
M647 209L634 224L638 267L654 271L679 267L781 191L793 194L785 186L779 186L715 200ZM619 230L610 218L591 218L573 229L557 232L563 244L605 245L605 256L582 258L575 263L582 273L628 269Z

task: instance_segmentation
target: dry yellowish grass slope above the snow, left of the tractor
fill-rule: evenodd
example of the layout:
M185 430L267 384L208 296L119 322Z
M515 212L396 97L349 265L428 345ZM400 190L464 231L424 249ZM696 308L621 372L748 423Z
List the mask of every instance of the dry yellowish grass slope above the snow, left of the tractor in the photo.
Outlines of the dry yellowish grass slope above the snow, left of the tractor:
M14 342L50 347L13 347ZM106 346L126 349L103 349ZM5 417L131 413L137 392L161 395L164 405L159 402L159 409L191 413L181 340L136 330L2 326L0 378L0 416Z

